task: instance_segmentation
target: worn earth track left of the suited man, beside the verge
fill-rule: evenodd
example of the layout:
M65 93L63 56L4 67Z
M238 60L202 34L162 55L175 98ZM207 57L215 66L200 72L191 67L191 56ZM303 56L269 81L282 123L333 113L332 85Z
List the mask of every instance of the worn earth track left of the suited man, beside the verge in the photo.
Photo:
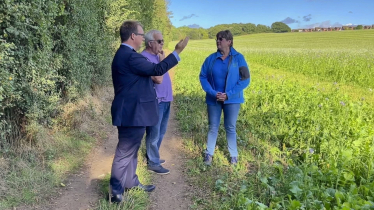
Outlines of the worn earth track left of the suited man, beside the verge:
M88 156L82 170L72 174L64 182L64 187L52 195L50 201L42 206L19 207L17 210L87 210L94 209L100 193L98 184L105 175L110 173L114 149L117 145L117 131L113 127L108 129L109 138L93 149Z

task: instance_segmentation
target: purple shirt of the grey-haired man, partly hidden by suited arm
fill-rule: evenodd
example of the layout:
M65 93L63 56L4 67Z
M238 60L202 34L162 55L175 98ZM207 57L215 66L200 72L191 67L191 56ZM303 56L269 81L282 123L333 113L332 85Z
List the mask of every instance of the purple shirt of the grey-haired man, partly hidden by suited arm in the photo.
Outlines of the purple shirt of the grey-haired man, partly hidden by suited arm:
M149 53L145 50L141 54L152 63L157 64L160 62L160 59L157 55ZM164 78L161 84L155 84L155 90L157 94L158 103L173 101L173 89L171 87L171 79L169 76L169 72L166 72L163 75L163 77Z

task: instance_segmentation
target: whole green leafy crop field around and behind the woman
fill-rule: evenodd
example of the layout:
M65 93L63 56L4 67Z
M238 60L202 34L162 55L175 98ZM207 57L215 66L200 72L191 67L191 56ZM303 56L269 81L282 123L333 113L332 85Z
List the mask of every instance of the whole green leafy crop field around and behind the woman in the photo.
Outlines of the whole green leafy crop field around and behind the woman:
M234 37L234 47L251 72L237 167L223 126L213 165L202 164L208 121L199 73L215 41L190 41L173 81L187 173L203 190L196 208L372 209L374 30L255 34Z

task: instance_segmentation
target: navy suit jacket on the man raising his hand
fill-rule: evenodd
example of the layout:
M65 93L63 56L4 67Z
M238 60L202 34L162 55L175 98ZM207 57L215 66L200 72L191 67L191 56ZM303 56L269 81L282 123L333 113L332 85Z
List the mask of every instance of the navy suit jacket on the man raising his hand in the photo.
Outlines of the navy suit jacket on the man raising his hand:
M121 45L112 62L114 126L153 126L158 122L158 102L151 76L161 76L178 64L172 54L151 63L128 46Z

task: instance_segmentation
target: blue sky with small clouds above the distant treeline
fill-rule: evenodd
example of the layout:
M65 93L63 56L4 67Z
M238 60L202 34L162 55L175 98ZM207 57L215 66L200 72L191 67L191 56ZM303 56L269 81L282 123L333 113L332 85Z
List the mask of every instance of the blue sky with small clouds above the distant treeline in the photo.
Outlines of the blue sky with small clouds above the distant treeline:
M175 27L286 23L291 29L373 25L374 0L169 0Z

